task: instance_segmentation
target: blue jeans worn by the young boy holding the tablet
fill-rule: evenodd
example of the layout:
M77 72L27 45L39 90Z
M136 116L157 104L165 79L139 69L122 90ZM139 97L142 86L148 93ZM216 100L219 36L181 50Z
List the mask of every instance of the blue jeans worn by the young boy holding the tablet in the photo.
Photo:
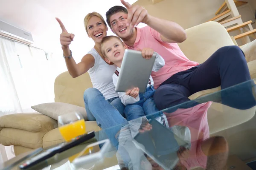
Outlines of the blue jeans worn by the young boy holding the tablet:
M139 102L125 106L124 113L127 121L159 112L153 99L154 92L153 86L148 87L145 93L140 94Z

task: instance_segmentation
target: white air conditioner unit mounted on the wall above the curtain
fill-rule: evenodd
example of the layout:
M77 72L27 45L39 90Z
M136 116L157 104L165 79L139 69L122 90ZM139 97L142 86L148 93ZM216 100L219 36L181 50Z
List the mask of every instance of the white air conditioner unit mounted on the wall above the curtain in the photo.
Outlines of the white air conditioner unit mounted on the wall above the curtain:
M24 31L1 20L0 35L2 35L3 37L8 37L13 40L23 42L25 44L32 44L34 42L32 34L30 32Z

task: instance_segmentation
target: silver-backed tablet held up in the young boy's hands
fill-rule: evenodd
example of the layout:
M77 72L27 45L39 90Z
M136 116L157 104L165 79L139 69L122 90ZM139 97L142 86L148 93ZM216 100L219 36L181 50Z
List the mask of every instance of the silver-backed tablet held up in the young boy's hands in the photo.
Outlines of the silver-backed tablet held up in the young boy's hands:
M145 93L148 80L156 59L156 54L150 59L142 57L141 51L125 50L121 70L116 84L117 92L126 92L138 87L140 93Z

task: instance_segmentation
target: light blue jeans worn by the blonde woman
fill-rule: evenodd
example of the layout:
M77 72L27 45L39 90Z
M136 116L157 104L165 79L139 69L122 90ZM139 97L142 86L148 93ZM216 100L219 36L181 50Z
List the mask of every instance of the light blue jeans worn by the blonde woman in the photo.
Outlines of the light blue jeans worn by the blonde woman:
M120 111L122 110L121 108L124 107L121 105L122 102L119 98L107 101L103 94L96 88L88 88L84 91L84 105L88 120L97 120L98 125L103 129L100 131L100 136L108 136L113 146L118 148L116 134L118 134L121 127L127 125L128 122L125 120L124 115L122 116L112 103L115 104Z

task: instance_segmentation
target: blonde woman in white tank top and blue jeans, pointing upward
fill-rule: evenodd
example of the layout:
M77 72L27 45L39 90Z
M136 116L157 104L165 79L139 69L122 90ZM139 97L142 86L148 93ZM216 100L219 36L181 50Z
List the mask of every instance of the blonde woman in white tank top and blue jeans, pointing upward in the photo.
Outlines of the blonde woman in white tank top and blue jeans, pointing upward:
M108 31L107 24L103 17L99 13L93 12L87 14L84 18L85 30L88 37L92 38L95 42L95 45L78 64L76 64L73 59L72 52L69 48L75 35L67 32L61 20L58 18L56 18L56 20L62 29L60 41L70 75L75 78L88 71L93 83L93 88L88 88L84 92L84 103L88 120L97 120L98 125L104 129L100 131L99 136L107 134L113 146L119 150L119 153L123 152L122 147L118 148L119 141L117 138L121 140L120 142L123 149L125 147L125 150L131 153L141 153L135 146L131 147L124 144L127 142L124 139L130 139L128 141L131 142L131 132L127 126L128 122L123 117L124 105L115 92L115 86L113 85L112 75L116 70L116 66L113 64L109 65L105 62L100 50L102 38L107 35ZM124 158L124 156L126 155L122 154L121 157ZM133 161L133 163L138 161L140 160Z

